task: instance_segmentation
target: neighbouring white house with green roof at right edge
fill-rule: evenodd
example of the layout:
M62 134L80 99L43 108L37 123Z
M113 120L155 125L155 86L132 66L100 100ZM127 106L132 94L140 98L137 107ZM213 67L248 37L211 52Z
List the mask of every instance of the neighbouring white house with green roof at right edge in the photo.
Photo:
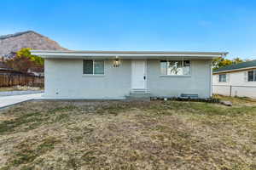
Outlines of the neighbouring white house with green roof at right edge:
M213 94L256 98L256 59L213 71Z

